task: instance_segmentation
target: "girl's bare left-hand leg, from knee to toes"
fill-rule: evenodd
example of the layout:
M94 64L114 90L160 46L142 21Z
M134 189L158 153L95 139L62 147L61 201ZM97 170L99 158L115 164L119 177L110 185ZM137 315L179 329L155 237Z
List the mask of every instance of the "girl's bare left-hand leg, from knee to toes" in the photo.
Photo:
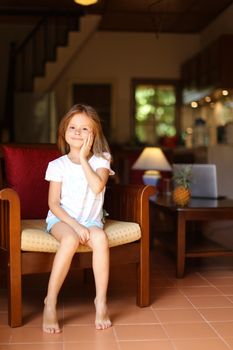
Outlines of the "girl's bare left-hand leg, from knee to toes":
M59 333L61 329L58 325L56 312L57 296L78 248L79 238L71 227L63 222L56 223L52 227L51 233L60 242L60 247L55 255L49 278L43 314L43 331L46 333Z

